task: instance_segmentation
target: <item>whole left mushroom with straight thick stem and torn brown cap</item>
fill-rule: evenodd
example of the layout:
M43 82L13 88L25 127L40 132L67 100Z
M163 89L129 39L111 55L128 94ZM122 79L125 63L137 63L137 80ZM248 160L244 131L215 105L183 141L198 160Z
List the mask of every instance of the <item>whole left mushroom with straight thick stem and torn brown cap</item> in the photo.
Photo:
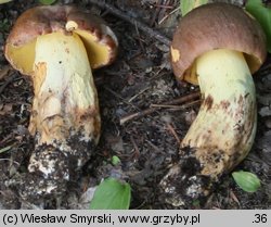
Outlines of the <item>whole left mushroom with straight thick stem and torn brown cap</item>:
M34 84L28 171L42 180L29 179L28 189L38 185L36 194L57 192L90 159L101 129L91 70L112 63L117 46L101 18L75 7L36 7L14 24L4 54Z

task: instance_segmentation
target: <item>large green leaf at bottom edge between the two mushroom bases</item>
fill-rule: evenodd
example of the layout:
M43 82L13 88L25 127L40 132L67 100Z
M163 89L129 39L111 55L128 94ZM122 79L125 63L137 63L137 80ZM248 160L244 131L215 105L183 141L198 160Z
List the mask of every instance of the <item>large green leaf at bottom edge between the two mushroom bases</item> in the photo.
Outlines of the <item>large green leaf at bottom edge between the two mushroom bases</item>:
M131 187L128 182L120 182L115 178L102 181L90 203L92 210L128 210L131 199Z

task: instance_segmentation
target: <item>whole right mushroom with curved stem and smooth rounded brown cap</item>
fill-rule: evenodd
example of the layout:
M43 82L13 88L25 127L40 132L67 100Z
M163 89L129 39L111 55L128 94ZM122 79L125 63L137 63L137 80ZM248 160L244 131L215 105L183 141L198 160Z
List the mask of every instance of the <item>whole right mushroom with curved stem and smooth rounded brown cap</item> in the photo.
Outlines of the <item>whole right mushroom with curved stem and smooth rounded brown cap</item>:
M181 20L171 43L173 73L199 85L203 102L181 142L180 161L160 181L167 202L179 206L206 198L247 155L257 125L251 74L266 54L260 25L241 8L210 3Z

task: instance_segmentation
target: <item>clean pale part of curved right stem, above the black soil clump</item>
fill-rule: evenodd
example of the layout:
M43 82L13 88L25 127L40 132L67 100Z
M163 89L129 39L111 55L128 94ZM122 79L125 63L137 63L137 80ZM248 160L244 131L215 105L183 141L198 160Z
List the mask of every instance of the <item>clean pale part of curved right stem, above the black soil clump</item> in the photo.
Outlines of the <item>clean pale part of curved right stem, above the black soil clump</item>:
M195 148L201 174L216 178L240 163L256 133L256 94L244 55L219 49L196 60L203 104L182 147Z

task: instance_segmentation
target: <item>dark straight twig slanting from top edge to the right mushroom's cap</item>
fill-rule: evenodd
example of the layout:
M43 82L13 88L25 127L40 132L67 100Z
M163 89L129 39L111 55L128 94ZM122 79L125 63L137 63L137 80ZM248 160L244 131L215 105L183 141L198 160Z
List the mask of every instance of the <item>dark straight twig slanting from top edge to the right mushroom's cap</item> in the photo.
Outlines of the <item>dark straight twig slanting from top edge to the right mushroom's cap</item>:
M166 46L170 45L170 39L169 38L167 38L163 34L160 34L159 31L152 29L151 27L146 26L145 24L137 21L137 18L125 14L122 11L116 9L112 4L106 3L104 1L101 1L101 0L89 0L89 2L92 3L92 4L98 5L99 8L104 8L105 10L107 10L112 14L118 16L119 18L121 18L121 20L124 20L126 22L129 22L129 23L133 24L134 26L138 26L138 28L140 30L142 30L143 33L145 33L147 36L154 37L155 39L163 42L164 45L166 45Z

